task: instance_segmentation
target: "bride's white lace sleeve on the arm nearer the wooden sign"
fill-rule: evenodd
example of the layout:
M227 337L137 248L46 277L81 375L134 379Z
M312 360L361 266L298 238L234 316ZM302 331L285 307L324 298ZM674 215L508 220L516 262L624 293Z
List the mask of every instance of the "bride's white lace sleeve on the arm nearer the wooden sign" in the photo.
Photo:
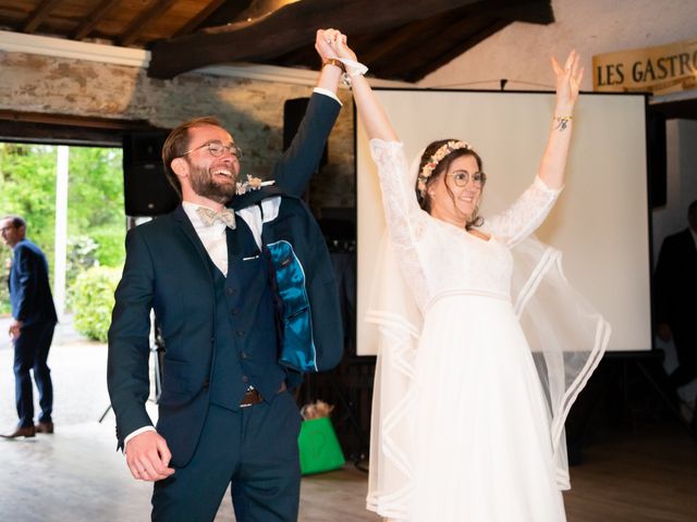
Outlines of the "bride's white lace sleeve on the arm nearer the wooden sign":
M482 231L513 247L533 234L554 206L560 189L549 188L539 177L503 212L485 217Z

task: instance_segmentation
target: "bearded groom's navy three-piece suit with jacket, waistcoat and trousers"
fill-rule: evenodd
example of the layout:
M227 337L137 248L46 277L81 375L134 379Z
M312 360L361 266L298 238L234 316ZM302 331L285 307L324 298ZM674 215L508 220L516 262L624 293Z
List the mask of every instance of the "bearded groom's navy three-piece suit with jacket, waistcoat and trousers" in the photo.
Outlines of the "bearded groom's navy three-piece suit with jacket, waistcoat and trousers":
M282 197L282 221L295 209L298 223L309 223L296 196L317 169L339 108L335 100L314 95L296 138L276 165L272 195ZM271 225L265 223L262 238ZM339 362L343 347L333 343L334 335L342 338L338 320L332 324L339 318L333 278L322 298L315 291L328 275L313 270L317 259L329 261L326 246L320 241L305 248L306 237L321 240L317 231L314 221L296 225L289 239L298 241L296 257L309 269L310 301L317 294L318 302L329 303L327 314L318 315L318 309L313 319L313 324L327 323L315 332L314 343L319 369L326 369ZM145 401L148 314L154 309L166 345L157 430L168 442L175 469L174 475L155 485L154 520L212 520L229 484L241 522L297 518L301 419L292 395L279 390L282 384L297 385L302 375L279 363L278 296L267 249L259 249L242 219L227 235L227 277L181 207L126 237L126 262L109 331L108 384L123 446L123 437L151 423ZM250 385L264 401L240 408Z

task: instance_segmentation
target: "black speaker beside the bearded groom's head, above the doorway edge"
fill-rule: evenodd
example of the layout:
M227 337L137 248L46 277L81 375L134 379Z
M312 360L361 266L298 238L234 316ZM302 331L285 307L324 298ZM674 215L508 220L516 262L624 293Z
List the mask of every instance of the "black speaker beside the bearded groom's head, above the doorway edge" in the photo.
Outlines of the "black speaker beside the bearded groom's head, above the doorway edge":
M163 132L133 133L123 137L123 191L126 215L171 212L181 199L162 164Z

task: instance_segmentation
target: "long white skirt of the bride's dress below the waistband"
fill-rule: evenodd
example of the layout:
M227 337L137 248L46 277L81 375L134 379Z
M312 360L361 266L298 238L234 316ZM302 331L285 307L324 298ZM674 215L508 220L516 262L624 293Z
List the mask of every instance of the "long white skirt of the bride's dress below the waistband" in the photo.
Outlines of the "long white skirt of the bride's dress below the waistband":
M414 370L408 520L564 521L542 387L511 302L438 299Z

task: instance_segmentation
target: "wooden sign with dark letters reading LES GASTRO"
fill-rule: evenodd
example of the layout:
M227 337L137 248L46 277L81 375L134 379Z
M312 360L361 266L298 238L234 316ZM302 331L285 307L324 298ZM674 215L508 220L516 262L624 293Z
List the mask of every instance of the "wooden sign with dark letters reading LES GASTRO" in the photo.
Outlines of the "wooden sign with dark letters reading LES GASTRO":
M664 95L697 87L697 39L592 57L592 88Z

